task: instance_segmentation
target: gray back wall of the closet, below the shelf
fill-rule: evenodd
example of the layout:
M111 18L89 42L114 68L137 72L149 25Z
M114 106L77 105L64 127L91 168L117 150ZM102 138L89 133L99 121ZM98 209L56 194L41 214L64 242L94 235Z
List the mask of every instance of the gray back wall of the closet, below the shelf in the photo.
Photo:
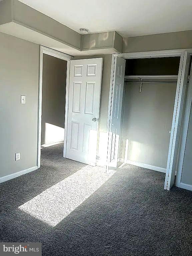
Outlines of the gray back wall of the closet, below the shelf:
M176 83L127 83L123 116L123 157L166 168Z

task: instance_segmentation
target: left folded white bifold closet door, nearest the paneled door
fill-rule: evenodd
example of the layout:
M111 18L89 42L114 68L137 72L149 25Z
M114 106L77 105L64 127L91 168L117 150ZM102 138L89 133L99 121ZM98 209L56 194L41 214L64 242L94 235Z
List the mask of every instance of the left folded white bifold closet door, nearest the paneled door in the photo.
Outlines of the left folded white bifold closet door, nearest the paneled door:
M114 75L113 75L113 92L111 106L111 120L109 127L109 143L108 143L108 168L117 168L118 163L118 149L121 132L121 110L123 101L123 87L125 75L125 60L115 57Z

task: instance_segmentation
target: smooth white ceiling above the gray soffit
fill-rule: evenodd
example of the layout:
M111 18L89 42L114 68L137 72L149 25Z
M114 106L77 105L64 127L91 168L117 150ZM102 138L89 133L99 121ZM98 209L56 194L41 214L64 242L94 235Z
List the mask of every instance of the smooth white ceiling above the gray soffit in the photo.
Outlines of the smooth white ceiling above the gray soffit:
M191 0L20 0L79 32L123 37L192 30Z

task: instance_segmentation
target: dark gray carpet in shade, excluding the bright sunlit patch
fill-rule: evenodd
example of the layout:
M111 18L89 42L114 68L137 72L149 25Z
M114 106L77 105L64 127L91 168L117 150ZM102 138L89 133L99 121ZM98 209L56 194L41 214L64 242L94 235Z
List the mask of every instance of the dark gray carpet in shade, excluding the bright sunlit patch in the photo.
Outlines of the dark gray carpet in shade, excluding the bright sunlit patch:
M84 166L52 146L39 170L0 184L0 241L42 242L43 256L192 255L192 193L165 191L160 172L123 166L55 227L18 209Z

